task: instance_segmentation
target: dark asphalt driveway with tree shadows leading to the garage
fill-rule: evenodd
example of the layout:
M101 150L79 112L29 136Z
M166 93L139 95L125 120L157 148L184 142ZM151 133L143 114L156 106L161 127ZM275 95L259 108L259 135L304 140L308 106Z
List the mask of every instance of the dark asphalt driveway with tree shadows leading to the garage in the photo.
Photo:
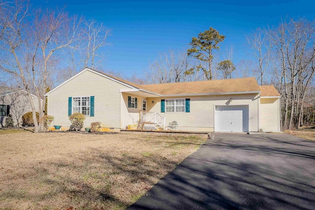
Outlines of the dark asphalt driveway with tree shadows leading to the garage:
M213 136L128 210L315 209L315 142Z

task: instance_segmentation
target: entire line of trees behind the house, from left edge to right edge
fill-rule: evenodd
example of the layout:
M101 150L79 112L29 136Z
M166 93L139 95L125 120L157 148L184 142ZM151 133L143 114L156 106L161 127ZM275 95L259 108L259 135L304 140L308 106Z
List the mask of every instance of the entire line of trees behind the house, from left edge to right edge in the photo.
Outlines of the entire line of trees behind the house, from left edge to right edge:
M71 16L65 9L35 8L29 1L0 0L0 74L2 85L27 90L43 99L45 93L84 67L102 68L100 49L110 30L95 20ZM314 122L314 21L285 19L279 26L248 34L250 58L233 62L233 48L222 51L225 36L210 28L192 37L187 49L161 53L145 77L126 78L138 84L255 77L281 92L284 128ZM221 55L220 55L221 54ZM223 58L223 59L222 59ZM35 107L30 100L37 126Z

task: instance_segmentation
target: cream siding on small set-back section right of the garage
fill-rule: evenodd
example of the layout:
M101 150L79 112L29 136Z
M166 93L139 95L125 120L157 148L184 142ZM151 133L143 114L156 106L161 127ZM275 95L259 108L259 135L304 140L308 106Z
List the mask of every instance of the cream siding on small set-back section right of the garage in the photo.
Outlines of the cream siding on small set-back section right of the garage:
M260 129L263 132L279 131L279 98L260 99Z

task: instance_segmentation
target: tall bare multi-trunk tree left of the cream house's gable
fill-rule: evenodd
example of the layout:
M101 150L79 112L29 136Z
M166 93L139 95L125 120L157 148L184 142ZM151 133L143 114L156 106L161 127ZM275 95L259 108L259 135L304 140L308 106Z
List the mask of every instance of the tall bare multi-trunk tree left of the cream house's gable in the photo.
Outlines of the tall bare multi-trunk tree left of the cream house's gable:
M0 60L0 69L9 73L27 91L37 132L42 126L37 124L31 92L38 96L41 117L45 107L44 95L54 74L53 55L78 39L80 19L69 17L63 9L30 10L29 2L23 0L2 2L0 13L1 28L5 26L0 48L6 55Z

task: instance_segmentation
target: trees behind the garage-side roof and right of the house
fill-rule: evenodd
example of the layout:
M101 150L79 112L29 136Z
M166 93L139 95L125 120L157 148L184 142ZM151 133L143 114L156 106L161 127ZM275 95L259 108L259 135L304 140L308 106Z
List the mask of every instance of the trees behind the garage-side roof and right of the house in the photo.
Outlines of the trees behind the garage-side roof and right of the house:
M286 19L279 26L255 30L247 36L254 59L235 65L232 50L227 51L226 59L218 60L214 50L220 50L224 36L210 28L193 37L188 50L162 54L150 66L147 82L255 77L259 85L273 84L281 93L284 129L309 125L315 120L314 24L304 18Z

